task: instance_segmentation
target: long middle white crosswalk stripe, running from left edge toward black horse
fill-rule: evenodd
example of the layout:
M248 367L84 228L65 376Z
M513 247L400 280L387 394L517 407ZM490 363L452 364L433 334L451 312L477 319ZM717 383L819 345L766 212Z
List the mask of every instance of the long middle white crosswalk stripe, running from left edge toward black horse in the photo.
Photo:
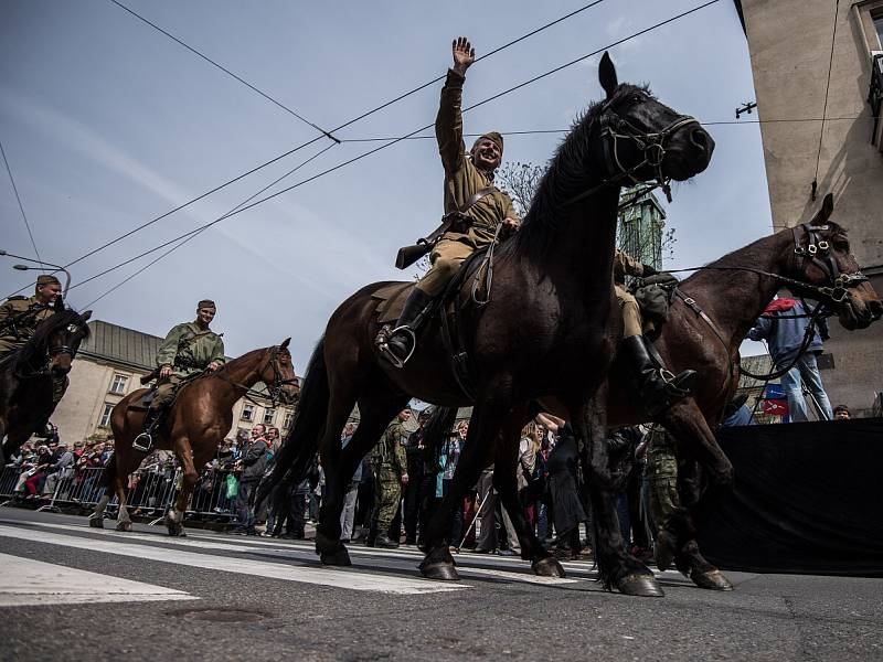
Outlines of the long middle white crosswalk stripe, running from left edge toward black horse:
M426 579L395 577L389 575L371 575L353 572L350 569L333 569L305 567L299 565L287 565L279 563L267 563L249 559L243 564L242 558L213 556L209 554L198 554L168 547L151 547L149 545L137 545L116 541L102 541L95 537L75 537L36 531L33 528L20 528L14 526L0 525L0 536L46 543L50 545L61 545L78 549L89 549L92 552L103 552L116 554L118 556L131 556L145 560L158 560L161 563L174 563L195 568L220 570L224 573L236 573L240 575L253 575L268 577L272 579L284 579L304 584L315 584L331 586L337 588L349 588L353 590L369 590L384 594L416 595L428 592L444 592L467 588L464 584L429 581Z

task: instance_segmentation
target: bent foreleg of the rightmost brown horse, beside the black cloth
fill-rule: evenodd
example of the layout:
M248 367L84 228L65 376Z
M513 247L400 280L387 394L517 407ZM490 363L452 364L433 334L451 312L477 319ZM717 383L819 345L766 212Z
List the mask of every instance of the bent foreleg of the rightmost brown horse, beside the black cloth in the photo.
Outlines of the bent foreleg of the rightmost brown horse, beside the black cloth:
M724 455L705 417L692 398L681 401L666 415L664 427L678 439L678 449L694 461L678 471L681 508L660 532L657 565L664 569L675 562L678 569L701 588L733 590L733 584L700 553L696 532L724 493L733 489L733 465ZM702 479L708 487L702 489Z

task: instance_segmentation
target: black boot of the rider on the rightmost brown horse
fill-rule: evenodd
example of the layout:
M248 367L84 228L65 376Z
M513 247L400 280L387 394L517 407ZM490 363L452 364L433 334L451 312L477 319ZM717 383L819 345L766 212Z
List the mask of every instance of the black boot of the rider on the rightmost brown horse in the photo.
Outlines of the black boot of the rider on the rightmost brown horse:
M650 416L658 416L690 395L696 373L685 370L673 374L662 364L659 354L648 348L648 342L643 335L631 335L623 340L621 348L634 366L634 378L643 408Z

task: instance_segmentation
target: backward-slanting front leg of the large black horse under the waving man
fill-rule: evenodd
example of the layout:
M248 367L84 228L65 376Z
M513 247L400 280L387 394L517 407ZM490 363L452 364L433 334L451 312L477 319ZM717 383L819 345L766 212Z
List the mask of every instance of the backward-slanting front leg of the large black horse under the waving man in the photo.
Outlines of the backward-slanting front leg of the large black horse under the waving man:
M508 389L488 388L486 393L493 395L479 397L480 404L472 409L466 444L460 451L450 489L442 498L429 520L425 538L426 557L419 566L423 576L429 579L459 579L446 542L446 535L450 531L450 519L457 510L457 504L462 502L467 490L476 484L481 470L490 463L500 425L509 410L508 395L502 395L508 394Z

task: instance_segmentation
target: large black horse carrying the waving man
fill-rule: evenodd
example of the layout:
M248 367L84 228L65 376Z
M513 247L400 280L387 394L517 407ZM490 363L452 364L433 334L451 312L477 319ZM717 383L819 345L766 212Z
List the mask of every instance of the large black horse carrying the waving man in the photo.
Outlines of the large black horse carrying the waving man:
M437 328L425 329L404 369L381 359L374 344L380 323L373 295L390 284L364 287L331 316L310 360L295 426L260 493L266 495L283 478L298 480L318 448L326 490L316 549L323 563L349 565L340 543L343 488L412 396L475 407L453 494L442 500L427 527L421 569L429 578L457 578L445 541L456 494L475 484L491 461L499 471L514 474L512 458L493 457L498 434L514 438L520 433L520 425L502 427L512 420L512 412L524 413L534 398L552 395L565 403L568 418L584 426L587 404L604 380L621 333L619 316L610 316L621 184L687 180L708 167L714 147L692 117L662 105L645 88L619 85L606 55L599 79L606 98L576 122L552 160L521 231L497 250L490 302L469 306L465 292L456 303L466 303L459 318L474 365L474 402L449 369ZM341 451L340 433L357 404L361 420ZM515 492L501 498L514 512ZM613 509L607 516L614 516ZM521 544L534 572L563 575L535 536ZM658 591L649 572L641 577L625 569L617 585L626 592Z

